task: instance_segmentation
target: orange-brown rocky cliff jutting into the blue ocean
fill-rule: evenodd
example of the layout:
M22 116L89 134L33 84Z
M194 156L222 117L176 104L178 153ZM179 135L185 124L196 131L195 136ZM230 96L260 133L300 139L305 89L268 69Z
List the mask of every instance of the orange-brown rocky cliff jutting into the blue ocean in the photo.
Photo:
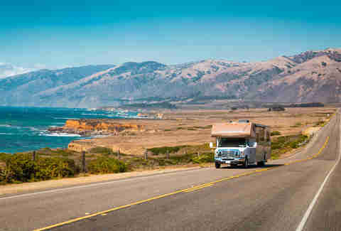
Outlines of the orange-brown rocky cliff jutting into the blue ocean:
M144 131L144 126L121 124L114 119L68 119L63 127L53 127L48 131L81 136L119 135L125 132Z

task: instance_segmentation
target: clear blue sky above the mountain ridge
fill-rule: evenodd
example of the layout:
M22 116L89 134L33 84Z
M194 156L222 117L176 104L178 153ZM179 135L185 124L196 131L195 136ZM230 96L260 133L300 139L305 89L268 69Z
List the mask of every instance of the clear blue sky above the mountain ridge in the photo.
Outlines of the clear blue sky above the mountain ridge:
M0 63L261 61L341 48L341 1L0 1Z

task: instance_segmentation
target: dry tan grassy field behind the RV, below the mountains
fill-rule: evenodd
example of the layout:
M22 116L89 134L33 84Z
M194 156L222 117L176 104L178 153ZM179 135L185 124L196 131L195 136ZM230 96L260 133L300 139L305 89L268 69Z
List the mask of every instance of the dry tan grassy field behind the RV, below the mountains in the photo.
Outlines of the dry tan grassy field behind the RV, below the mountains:
M270 126L271 131L280 131L281 135L296 135L327 119L328 114L333 112L335 108L331 107L287 108L283 112L267 112L267 109L174 111L166 112L165 119L129 120L131 124L143 124L147 129L144 132L75 143L92 147L105 146L124 154L142 155L146 149L153 147L199 145L214 141L210 137L210 125L216 122L249 119Z

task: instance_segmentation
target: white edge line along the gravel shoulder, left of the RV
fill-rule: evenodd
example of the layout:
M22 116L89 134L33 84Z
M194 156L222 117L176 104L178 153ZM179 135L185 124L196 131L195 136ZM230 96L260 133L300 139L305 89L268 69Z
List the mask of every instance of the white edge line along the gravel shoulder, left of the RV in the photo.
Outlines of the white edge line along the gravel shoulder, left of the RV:
M204 169L207 169L207 168L196 168L196 169L185 170L185 171L197 171L197 170L204 170ZM156 174L151 174L149 176L137 176L137 177L122 179L122 180L107 181L107 182L102 182L102 183L91 183L91 184L87 184L86 186L74 186L74 187L69 187L69 188L58 188L58 189L53 189L53 190L45 190L45 191L41 191L41 192L37 192L37 193L25 193L25 194L21 194L21 195L12 195L12 196L8 196L8 197L0 198L0 200L23 198L23 197L31 196L31 195L38 195L38 194L43 194L43 193L55 193L55 192L59 192L59 191L72 190L72 189L77 189L77 188L90 188L90 187L94 187L94 186L103 186L103 185L107 185L107 184L111 184L111 183L120 183L120 182L125 182L125 181L134 181L136 179L141 179L141 178L161 176L163 174L173 175L176 173L183 173L185 171L173 171L173 172L169 172L169 173L156 173Z

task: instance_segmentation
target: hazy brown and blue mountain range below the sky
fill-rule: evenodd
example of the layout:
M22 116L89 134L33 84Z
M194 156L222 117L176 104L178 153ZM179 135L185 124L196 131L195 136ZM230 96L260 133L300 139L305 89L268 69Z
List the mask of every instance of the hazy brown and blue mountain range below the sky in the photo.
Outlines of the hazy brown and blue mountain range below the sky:
M103 107L142 100L340 102L341 49L239 63L154 61L37 70L0 79L0 105Z

